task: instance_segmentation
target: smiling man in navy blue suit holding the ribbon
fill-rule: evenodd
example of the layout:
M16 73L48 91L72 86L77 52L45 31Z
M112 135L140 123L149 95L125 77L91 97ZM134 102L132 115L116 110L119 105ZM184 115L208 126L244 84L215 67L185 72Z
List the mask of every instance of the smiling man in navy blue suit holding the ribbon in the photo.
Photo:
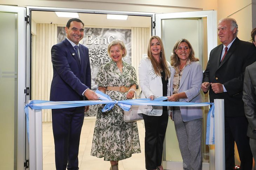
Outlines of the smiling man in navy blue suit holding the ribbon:
M52 47L53 80L50 101L97 100L91 88L87 47L79 44L84 24L73 18L65 27L67 38ZM78 150L84 112L89 106L52 109L56 170L78 170Z

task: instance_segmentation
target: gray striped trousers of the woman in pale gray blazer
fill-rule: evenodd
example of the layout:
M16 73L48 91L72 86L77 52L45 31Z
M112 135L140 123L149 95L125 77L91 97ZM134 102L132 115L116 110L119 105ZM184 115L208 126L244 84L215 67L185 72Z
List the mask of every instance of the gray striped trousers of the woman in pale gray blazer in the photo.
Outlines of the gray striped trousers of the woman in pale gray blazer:
M179 107L174 108L173 118L183 170L202 170L202 119L182 121Z

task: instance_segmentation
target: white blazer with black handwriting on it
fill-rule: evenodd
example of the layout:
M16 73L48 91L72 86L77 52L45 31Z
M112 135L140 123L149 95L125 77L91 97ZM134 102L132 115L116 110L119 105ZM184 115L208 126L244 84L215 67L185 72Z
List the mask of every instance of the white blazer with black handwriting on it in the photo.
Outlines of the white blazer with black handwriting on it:
M170 63L167 61L168 67L170 69ZM151 95L154 95L156 98L163 96L163 84L162 84L162 78L159 75L156 75L154 72L154 68L151 64L151 61L149 58L143 58L140 61L140 66L139 66L139 81L140 81L140 87L142 90L141 98L148 98ZM171 78L169 77L168 79L168 84L167 84L167 96L170 95L170 82ZM144 112L142 113L151 115L151 116L161 116L162 115L162 106L154 106L152 108L153 110L151 111L150 114L147 109L144 109Z

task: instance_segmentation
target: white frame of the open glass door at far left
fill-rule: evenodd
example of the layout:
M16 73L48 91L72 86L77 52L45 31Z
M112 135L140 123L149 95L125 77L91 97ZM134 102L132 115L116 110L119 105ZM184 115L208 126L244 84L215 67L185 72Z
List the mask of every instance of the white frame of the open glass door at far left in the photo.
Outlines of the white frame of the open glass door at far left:
M16 117L16 147L14 150L14 160L16 159L16 164L14 161L14 169L17 170L24 170L24 162L25 162L25 111L24 111L24 104L25 104L25 53L26 53L26 39L25 39L25 14L26 8L24 7L15 7L15 6L7 6L7 5L0 5L1 12L7 13L16 13L17 14L17 58L18 58L18 69L17 69L17 117ZM16 152L16 153L15 153ZM16 168L15 168L16 167Z

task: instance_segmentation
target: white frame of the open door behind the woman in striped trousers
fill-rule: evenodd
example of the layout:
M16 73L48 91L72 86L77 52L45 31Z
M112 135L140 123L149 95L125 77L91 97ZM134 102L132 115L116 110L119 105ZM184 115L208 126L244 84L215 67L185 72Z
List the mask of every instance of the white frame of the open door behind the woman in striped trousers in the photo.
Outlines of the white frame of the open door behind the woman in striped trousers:
M162 37L162 20L202 17L207 17L207 59L209 60L211 50L217 46L217 12L215 10L155 14L155 35ZM215 148L211 145L209 145L209 154L210 163L203 163L203 168L215 169ZM182 168L182 162L163 161L163 167L164 169L169 169L169 167Z

